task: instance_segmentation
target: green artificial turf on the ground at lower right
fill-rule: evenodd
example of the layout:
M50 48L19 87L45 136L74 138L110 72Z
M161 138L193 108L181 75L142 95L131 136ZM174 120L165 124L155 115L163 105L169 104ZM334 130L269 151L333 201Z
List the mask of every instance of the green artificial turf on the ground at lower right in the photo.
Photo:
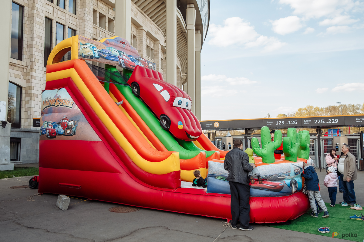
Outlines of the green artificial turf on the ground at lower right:
M343 207L341 204L336 204L335 208L331 207L328 203L325 203L330 214L330 217L323 218L324 212L318 214L318 218L310 216L311 210L303 214L302 216L292 220L289 225L269 225L279 229L293 230L309 234L323 235L332 237L337 232L334 238L347 239L351 241L363 242L364 239L364 221L353 220L349 216L356 214L361 216L364 214L364 210L350 209L350 206ZM318 230L319 227L330 227L330 233L321 233ZM357 234L357 237L354 237ZM346 237L345 235L348 235ZM352 235L350 237L350 235Z

